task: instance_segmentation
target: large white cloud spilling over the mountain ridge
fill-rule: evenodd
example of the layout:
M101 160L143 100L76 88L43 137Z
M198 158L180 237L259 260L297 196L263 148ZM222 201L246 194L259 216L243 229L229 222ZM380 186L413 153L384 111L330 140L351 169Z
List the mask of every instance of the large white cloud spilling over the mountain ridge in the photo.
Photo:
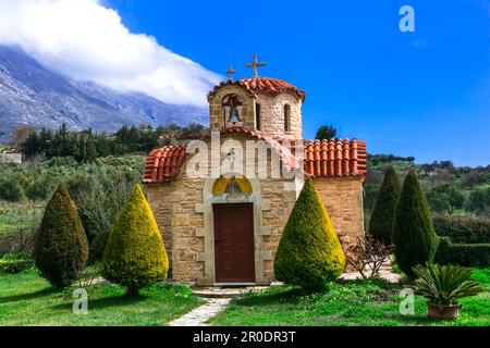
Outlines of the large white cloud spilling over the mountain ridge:
M0 44L69 77L170 103L204 105L220 76L132 34L99 0L0 0Z

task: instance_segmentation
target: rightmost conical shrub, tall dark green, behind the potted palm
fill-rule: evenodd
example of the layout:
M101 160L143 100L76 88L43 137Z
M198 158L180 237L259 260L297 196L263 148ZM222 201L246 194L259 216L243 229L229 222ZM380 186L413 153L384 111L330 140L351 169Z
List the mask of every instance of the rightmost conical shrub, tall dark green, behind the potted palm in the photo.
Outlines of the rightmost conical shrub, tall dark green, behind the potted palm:
M396 263L411 278L415 277L415 265L433 261L439 246L429 204L414 170L406 176L400 194L392 241Z

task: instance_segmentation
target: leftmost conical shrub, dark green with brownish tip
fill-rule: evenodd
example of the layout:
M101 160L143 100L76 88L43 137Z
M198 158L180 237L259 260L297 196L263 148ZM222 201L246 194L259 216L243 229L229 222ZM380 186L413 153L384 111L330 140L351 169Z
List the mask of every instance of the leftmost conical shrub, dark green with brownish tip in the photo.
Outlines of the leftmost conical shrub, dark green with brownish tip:
M54 288L70 286L87 261L87 236L64 185L58 187L46 206L34 257L41 275Z

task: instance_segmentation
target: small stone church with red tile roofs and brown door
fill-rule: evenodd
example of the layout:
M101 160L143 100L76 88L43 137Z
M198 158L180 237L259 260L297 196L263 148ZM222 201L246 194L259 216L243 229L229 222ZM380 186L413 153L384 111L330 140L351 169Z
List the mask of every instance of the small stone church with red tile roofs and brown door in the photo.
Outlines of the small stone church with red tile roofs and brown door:
M147 158L144 184L175 281L273 282L275 249L305 177L313 178L344 247L364 233L366 144L304 140L305 91L281 79L258 77L262 65L255 57L247 64L255 77L238 80L233 80L230 67L230 79L209 92L209 127L219 136L218 151L203 153L203 146L213 148L211 142L217 141L210 137L201 140L199 151L192 145L166 146ZM294 145L286 148L289 140ZM230 158L248 158L249 152L244 156L241 149L259 142L268 152L252 157L252 170L223 165ZM235 156L238 152L241 157ZM195 175L198 156L205 159L199 173L208 174ZM271 175L281 173L280 165L296 175Z

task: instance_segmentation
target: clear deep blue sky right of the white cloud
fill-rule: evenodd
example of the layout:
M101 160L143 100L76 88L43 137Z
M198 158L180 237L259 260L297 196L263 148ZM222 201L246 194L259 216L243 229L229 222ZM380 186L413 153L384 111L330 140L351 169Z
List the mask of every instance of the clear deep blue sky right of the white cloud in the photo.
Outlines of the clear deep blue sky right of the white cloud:
M490 1L110 0L123 23L237 77L257 52L261 76L307 92L305 137L333 124L371 153L417 162L490 163ZM399 10L415 9L415 33Z

